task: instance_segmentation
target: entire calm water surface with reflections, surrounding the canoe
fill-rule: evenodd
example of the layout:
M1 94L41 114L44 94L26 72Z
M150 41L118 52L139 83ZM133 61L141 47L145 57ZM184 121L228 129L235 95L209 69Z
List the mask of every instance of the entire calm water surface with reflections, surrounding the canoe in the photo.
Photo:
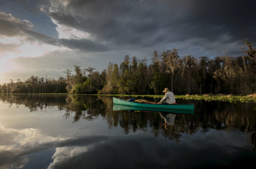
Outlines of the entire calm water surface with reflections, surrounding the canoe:
M110 96L0 94L0 168L255 167L255 103L177 102L194 113L113 111Z

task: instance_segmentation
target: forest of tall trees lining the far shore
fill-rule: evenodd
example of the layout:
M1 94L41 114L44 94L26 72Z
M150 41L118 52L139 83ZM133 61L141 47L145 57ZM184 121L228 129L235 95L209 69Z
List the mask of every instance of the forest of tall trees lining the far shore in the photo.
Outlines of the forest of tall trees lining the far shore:
M168 87L174 94L256 93L256 49L247 39L238 57L180 57L178 49L153 50L146 58L125 55L123 61L109 62L102 71L94 67L65 69L58 79L30 76L0 84L0 93L71 94L163 94ZM164 45L165 46L165 45Z

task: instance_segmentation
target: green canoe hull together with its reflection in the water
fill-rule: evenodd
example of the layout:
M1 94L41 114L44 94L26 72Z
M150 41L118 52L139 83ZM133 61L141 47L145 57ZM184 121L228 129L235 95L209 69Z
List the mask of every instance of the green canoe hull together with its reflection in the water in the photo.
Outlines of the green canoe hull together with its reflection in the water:
M125 101L113 97L113 110L149 110L173 113L194 113L194 104L148 104L132 101Z

